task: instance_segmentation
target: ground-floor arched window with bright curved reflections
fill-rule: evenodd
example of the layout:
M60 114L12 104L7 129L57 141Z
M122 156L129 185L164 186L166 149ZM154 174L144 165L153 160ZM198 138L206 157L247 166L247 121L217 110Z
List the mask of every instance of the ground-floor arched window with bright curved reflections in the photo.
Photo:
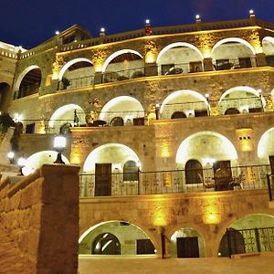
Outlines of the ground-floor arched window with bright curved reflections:
M102 233L93 241L91 254L121 255L121 244L111 233Z

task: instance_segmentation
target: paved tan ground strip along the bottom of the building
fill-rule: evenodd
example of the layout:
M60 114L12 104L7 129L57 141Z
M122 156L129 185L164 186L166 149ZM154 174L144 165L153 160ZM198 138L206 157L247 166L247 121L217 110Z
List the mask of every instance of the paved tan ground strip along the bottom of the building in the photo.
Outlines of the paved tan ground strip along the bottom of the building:
M79 257L79 274L274 274L274 252L243 258Z

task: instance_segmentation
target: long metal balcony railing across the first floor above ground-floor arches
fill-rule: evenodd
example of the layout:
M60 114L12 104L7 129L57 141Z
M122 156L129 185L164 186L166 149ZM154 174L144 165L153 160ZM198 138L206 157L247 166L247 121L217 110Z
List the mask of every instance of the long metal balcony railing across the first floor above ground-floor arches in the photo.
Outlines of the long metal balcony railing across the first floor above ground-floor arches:
M240 189L267 189L269 165L237 166L222 169L218 174L213 169L173 170L141 172L138 174L80 174L80 195L155 195L203 191ZM102 176L104 184L101 184ZM132 181L128 178L132 177ZM96 182L100 182L97 183ZM102 189L105 185L105 189ZM98 188L100 190L98 191Z

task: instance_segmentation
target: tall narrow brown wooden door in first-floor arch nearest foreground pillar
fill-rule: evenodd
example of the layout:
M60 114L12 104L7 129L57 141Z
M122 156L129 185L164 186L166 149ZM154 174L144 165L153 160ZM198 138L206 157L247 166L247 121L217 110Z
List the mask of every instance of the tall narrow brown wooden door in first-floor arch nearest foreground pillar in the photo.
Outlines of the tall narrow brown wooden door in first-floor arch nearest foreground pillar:
M95 196L111 195L111 163L95 163Z

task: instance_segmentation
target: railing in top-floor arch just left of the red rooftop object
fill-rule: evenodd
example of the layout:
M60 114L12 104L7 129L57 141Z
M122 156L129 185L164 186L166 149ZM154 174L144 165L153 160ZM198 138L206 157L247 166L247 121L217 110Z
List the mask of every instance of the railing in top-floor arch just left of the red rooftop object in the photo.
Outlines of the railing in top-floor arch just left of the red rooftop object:
M103 74L103 82L109 83L141 77L144 77L144 67L105 72Z

